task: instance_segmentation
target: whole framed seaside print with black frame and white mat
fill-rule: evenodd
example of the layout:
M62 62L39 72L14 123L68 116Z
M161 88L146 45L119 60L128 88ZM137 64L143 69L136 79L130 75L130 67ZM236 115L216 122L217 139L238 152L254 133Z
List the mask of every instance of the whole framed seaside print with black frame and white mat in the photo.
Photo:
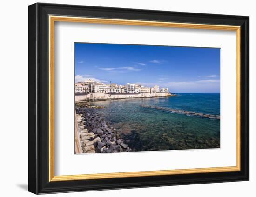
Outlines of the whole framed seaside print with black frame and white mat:
M249 17L28 6L28 191L249 180Z

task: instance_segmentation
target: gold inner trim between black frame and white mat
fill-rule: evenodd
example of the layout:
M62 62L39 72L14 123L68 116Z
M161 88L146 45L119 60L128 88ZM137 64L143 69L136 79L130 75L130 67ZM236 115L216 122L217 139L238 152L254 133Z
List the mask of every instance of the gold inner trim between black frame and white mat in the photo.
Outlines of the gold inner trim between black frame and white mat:
M83 18L69 16L49 15L49 181L71 181L85 179L101 178L128 178L128 177L145 177L159 175L191 174L191 173L209 173L209 172L231 172L240 171L240 26L229 25L208 25L208 24L191 24L191 23L173 23L143 20L125 20L125 19L100 19L100 18ZM118 173L100 173L100 174L81 174L81 175L54 175L54 23L59 22L79 22L79 23L96 23L96 24L114 24L114 25L140 25L140 26L158 26L174 27L189 29L209 29L209 30L229 30L236 31L236 166L230 167L211 167L195 169L177 169L177 170L160 170L160 171L141 171L141 172L118 172Z

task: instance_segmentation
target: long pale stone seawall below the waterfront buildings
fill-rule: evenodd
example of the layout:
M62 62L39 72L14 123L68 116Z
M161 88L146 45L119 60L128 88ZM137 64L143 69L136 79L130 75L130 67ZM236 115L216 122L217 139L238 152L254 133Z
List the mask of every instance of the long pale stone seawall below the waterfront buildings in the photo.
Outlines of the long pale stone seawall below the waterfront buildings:
M107 99L125 99L125 98L149 98L149 97L165 97L171 96L171 93L120 93L120 94L108 94L108 93L88 93L75 95L75 101L86 100L107 100Z

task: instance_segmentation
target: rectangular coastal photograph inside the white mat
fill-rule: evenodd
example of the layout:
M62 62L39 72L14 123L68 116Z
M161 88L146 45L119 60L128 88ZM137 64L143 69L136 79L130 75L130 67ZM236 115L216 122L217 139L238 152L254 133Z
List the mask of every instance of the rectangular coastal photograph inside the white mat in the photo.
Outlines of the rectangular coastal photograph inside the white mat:
M220 50L74 43L80 153L220 148Z

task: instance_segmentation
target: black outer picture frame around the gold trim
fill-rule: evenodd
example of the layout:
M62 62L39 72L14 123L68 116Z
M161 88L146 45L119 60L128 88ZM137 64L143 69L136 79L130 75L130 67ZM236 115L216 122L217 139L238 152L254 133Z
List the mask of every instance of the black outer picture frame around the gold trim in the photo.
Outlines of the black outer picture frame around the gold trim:
M49 182L48 15L241 27L241 170ZM249 17L35 3L28 6L28 191L35 194L249 180Z

